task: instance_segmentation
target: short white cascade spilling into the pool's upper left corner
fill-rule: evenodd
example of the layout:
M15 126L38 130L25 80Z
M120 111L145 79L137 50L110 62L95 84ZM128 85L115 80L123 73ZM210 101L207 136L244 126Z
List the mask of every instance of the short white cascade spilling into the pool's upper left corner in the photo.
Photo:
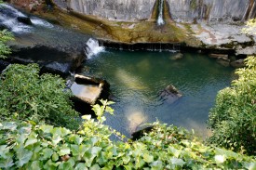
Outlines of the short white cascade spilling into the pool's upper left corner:
M85 53L86 53L88 59L90 59L92 56L96 56L97 54L104 51L104 49L105 48L103 46L99 45L98 40L95 40L93 38L89 38L88 42L86 44Z

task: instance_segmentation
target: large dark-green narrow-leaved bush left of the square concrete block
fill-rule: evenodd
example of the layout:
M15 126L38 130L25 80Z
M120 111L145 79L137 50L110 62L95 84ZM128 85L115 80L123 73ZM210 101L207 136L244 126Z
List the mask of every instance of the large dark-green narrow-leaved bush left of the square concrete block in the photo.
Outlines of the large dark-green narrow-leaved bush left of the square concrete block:
M72 109L64 80L51 74L38 75L36 64L13 64L0 76L1 120L31 120L77 129L78 113Z

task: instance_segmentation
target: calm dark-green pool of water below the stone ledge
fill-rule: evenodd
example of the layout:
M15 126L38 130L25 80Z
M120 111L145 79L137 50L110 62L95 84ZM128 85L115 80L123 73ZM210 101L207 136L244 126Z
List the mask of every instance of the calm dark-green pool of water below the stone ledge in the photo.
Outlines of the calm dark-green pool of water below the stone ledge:
M217 92L230 85L234 70L223 67L206 55L107 50L85 63L84 74L106 79L111 85L115 116L106 124L129 137L138 125L162 123L195 129L206 137L209 109ZM174 85L182 93L175 102L160 97L161 91Z

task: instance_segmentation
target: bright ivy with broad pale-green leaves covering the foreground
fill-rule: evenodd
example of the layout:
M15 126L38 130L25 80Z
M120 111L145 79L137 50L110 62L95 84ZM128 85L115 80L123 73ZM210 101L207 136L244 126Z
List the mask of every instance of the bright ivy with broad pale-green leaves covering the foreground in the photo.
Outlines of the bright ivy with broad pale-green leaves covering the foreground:
M0 124L0 168L3 169L255 169L253 157L212 148L191 139L182 129L155 123L152 132L134 142L113 142L112 130L85 116L83 127L71 132L52 125ZM100 112L100 113L99 113Z

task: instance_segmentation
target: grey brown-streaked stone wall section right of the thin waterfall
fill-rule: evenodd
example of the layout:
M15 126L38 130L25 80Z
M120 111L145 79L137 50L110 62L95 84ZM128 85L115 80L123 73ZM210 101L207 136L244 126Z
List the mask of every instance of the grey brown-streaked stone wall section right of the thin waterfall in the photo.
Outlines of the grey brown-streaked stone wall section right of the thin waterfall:
M254 0L167 0L172 20L178 22L240 21L255 17Z

